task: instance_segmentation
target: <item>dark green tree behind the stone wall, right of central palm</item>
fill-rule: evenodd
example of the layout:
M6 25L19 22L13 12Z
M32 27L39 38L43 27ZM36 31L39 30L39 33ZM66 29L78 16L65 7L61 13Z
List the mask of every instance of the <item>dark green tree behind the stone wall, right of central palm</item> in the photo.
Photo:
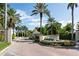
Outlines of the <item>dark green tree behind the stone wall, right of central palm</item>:
M54 18L49 18L47 26L47 32L49 35L59 34L59 30L61 29L61 23L54 20Z

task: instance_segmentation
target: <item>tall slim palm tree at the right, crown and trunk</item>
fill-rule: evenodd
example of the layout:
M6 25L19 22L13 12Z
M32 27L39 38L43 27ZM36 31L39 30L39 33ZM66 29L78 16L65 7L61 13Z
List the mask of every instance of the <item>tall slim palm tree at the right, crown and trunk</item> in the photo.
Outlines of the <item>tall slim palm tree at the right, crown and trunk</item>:
M72 40L73 40L73 33L74 33L74 8L77 7L77 3L69 3L67 9L71 8L71 15L72 15Z

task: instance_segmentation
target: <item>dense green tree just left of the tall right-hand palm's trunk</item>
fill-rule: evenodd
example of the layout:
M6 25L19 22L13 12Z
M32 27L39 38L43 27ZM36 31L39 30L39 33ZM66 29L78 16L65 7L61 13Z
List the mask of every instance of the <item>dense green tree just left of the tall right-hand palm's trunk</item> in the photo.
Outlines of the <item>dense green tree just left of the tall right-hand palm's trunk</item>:
M61 28L60 31L59 31L60 39L71 40L71 30L72 30L71 23L68 23L66 26ZM75 39L75 34L74 34L74 39Z

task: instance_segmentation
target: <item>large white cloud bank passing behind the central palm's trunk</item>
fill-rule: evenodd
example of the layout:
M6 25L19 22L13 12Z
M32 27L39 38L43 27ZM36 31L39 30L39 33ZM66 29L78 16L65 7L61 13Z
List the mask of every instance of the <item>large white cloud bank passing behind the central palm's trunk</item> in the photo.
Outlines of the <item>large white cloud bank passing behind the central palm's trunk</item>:
M38 18L34 18L33 16L29 16L27 15L27 13L23 10L20 10L20 9L17 9L16 10L18 14L20 14L20 19L22 20L22 25L26 25L27 27L39 27L40 26L40 19ZM25 20L26 19L26 20ZM29 22L28 22L29 21ZM47 19L45 19L43 17L43 20L42 20L42 26L45 26L45 24L47 23Z

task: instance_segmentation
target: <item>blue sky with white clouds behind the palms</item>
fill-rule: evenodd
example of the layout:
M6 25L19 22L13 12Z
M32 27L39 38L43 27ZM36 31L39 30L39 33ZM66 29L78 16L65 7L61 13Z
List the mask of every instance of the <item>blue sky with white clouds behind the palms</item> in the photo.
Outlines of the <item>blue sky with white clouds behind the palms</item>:
M17 13L21 15L20 19L22 23L19 25L26 25L28 29L33 30L35 27L40 26L39 14L31 16L32 10L34 10L35 3L10 3L11 8L14 8ZM66 3L47 3L48 10L51 16L55 18L56 21L62 23L62 27L67 23L71 23L71 9L67 9ZM74 28L76 29L76 24L79 21L79 7L74 10ZM43 26L47 23L48 17L43 16Z

